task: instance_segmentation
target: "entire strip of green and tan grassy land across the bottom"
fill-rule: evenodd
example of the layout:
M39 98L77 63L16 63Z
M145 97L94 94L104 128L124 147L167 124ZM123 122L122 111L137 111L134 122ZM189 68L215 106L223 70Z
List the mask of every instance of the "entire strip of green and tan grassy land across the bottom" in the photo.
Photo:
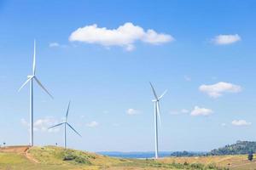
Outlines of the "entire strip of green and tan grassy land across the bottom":
M18 146L0 149L0 169L42 170L157 170L157 169L256 169L256 161L247 161L247 156L201 156L168 157L154 161L120 159L100 156L79 150L64 150L61 147Z

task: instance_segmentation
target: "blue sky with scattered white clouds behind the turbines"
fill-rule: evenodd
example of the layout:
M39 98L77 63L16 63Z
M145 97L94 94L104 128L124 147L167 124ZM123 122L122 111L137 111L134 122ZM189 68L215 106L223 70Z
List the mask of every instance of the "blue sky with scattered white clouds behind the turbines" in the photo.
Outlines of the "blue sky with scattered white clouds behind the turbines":
M17 90L32 71L34 38L38 78L55 97L35 88L35 144L62 144L62 129L45 127L71 99L69 122L83 138L69 131L69 147L154 150L149 81L158 94L168 89L160 150L256 140L255 8L249 0L0 1L0 142L28 144L29 88Z

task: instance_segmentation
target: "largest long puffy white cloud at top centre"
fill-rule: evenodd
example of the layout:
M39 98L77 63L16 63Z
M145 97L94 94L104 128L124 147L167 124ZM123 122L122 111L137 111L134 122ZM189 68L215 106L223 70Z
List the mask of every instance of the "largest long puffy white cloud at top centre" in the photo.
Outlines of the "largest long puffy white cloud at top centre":
M173 40L174 38L171 35L157 33L151 29L144 31L141 26L134 26L131 22L112 30L106 27L98 27L96 24L84 26L73 31L69 37L71 42L96 43L107 48L119 46L124 47L127 51L133 50L135 48L134 43L137 41L158 45Z

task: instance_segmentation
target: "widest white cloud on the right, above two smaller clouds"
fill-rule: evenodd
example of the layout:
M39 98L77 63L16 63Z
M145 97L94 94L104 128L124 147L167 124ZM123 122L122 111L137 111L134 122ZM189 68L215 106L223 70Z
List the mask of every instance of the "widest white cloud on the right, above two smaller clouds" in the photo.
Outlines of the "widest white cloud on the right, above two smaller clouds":
M212 98L218 98L224 93L238 93L241 91L241 87L229 82L218 82L212 85L203 84L199 87L199 90Z

